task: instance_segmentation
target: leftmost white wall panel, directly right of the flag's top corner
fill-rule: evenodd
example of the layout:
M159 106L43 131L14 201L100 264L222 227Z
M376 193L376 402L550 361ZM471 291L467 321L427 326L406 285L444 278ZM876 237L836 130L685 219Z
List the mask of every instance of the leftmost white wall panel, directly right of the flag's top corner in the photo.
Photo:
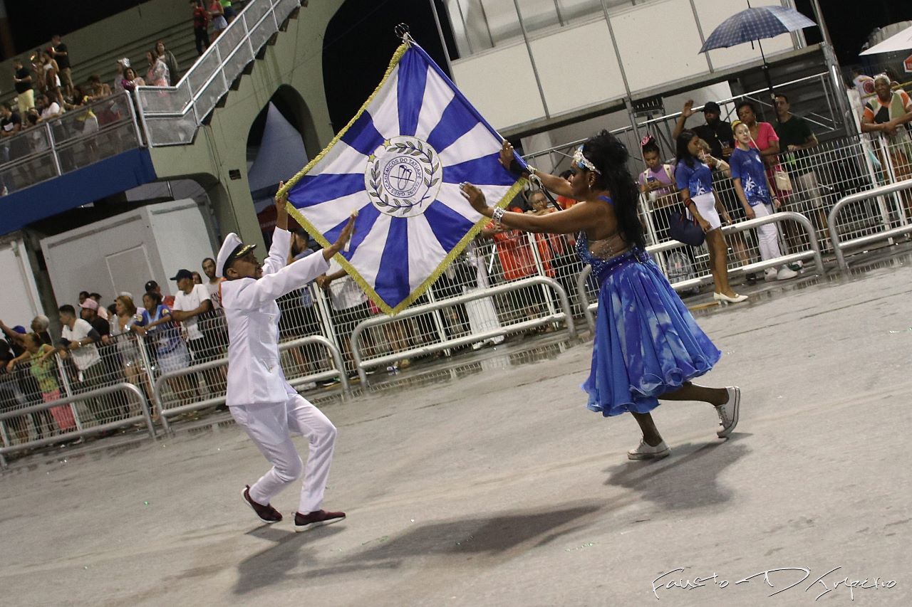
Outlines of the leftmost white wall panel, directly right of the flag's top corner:
M494 129L544 118L542 97L523 44L457 61L453 79Z

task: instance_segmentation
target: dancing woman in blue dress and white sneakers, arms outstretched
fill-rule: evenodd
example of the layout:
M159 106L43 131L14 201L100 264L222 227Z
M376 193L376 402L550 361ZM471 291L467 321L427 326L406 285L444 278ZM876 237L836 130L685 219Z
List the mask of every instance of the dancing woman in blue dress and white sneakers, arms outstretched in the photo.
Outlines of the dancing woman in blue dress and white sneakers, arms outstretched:
M659 398L710 403L719 415L718 436L728 437L738 424L741 390L691 382L721 353L646 252L627 158L624 144L603 130L576 150L569 180L533 169L545 188L579 201L547 215L492 208L471 183L461 189L475 211L507 228L579 232L577 253L592 265L599 283L592 369L583 385L587 406L605 417L629 412L637 419L643 438L628 458L664 458L670 449L649 414ZM501 161L506 167L513 161L509 142L503 144Z

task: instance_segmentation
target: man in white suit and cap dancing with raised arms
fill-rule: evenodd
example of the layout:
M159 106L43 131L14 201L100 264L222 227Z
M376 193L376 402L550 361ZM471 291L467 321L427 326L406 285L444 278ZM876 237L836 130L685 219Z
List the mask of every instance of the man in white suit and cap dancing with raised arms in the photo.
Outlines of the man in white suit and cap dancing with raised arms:
M221 288L229 340L226 404L234 420L273 464L253 486L244 489L244 502L265 523L278 522L282 514L270 505L270 499L303 473L295 531L304 531L345 519L344 512L320 508L336 427L285 380L275 300L326 273L328 260L351 237L355 218L349 219L338 240L322 254L285 265L291 245L286 201L285 197L275 199L273 244L263 266L254 256L255 245L244 244L231 233L219 251L216 271L225 279ZM303 435L310 443L306 466L295 450L291 433Z

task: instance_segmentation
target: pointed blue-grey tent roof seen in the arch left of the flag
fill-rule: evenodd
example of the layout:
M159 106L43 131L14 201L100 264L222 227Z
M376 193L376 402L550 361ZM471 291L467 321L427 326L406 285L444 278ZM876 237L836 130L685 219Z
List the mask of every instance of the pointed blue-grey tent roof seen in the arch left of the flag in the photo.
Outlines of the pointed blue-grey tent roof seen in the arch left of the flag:
M272 195L275 193L273 190L262 196L259 190L275 188L279 181L289 180L306 164L307 152L301 134L270 101L260 151L256 154L254 165L247 172L256 212L263 211L272 204Z

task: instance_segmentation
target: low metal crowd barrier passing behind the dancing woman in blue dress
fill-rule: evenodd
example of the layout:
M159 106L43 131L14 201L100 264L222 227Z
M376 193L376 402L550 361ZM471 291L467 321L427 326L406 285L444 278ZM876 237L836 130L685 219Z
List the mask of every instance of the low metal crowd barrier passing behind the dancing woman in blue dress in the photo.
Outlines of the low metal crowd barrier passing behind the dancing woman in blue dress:
M765 270L766 268L782 265L783 263L798 262L805 259L814 259L814 265L817 268L817 273L824 273L824 259L820 253L820 242L817 240L817 234L814 231L814 224L809 219L804 217L801 213L796 213L793 211L780 211L773 213L772 215L767 215L766 217L759 217L757 219L740 221L733 225L726 225L723 226L721 230L722 234L730 234L731 232L752 230L753 228L760 227L766 223L774 223L780 221L795 221L800 224L804 228L804 231L807 233L808 240L811 244L810 249L807 251L789 253L773 259L762 260L760 262L752 262L747 265L741 265L735 268L729 268L729 275L737 273L759 272L761 270ZM666 252L671 249L679 249L687 246L689 245L684 244L683 242L666 241L650 245L646 248L646 250L650 255L655 255L656 253ZM590 331L595 331L596 322L592 311L598 308L598 303L589 303L589 297L586 290L586 283L588 282L589 275L591 273L592 266L587 265L582 270L582 272L577 274L576 293L579 297L580 304L583 307L583 314L586 316L586 324L588 325ZM710 274L707 276L697 276L688 280L671 283L671 286L675 289L675 291L679 291L681 289L689 289L694 286L699 286L703 283L710 283L711 281L712 275Z

